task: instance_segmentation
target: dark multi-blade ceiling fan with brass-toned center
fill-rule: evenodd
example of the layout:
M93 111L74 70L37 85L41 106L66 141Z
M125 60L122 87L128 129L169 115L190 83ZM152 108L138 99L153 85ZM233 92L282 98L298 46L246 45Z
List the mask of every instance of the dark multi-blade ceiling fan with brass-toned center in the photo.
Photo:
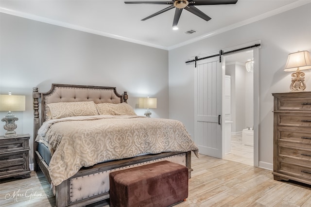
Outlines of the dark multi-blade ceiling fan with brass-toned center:
M167 4L171 5L161 11L156 12L153 15L147 16L146 18L141 19L142 21L147 20L151 17L157 16L162 14L163 12L169 11L176 7L174 20L173 20L173 27L177 26L179 17L183 9L191 12L192 14L203 18L204 20L208 21L211 18L201 12L195 6L199 5L218 5L218 4L235 4L238 0L172 0L172 1L124 1L124 3L132 3L132 4Z

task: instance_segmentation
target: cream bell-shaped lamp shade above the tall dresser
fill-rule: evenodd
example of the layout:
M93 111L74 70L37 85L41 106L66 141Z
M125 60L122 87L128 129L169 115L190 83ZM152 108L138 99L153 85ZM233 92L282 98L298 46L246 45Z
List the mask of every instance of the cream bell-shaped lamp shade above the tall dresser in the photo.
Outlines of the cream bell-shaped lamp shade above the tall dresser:
M284 71L296 71L311 69L311 57L309 51L298 51L288 55Z

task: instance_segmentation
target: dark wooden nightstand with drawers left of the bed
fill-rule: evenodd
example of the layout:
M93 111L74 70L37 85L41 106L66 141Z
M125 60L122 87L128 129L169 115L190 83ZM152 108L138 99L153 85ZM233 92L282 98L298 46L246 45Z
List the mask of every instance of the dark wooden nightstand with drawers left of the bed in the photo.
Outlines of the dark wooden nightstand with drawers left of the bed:
M0 178L30 177L29 134L0 136Z

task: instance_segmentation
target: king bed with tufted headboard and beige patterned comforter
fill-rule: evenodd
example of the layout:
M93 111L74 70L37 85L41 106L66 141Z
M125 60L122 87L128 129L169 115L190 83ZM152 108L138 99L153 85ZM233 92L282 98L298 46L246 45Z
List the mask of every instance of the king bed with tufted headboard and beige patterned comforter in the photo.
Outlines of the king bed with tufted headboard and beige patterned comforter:
M185 165L191 177L198 148L182 123L138 116L127 99L116 87L33 88L34 168L52 184L57 207L106 200L110 172L152 162Z

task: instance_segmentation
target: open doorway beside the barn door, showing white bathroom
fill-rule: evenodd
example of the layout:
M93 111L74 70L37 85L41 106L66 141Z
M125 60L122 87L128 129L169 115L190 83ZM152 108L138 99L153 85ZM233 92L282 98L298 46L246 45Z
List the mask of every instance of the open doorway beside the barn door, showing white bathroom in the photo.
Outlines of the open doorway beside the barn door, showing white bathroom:
M225 107L224 159L254 166L254 71L245 63L254 60L253 50L225 56L225 75L230 103ZM251 62L250 62L251 64Z

